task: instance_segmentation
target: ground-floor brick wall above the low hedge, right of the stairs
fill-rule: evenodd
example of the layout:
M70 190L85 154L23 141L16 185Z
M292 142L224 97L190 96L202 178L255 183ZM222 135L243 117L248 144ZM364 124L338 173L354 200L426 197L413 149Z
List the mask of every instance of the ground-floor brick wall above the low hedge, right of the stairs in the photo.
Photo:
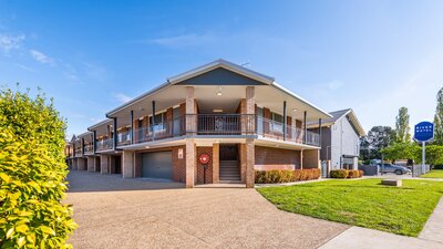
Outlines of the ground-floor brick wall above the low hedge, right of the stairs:
M255 147L255 169L296 169L300 168L300 151L272 147Z

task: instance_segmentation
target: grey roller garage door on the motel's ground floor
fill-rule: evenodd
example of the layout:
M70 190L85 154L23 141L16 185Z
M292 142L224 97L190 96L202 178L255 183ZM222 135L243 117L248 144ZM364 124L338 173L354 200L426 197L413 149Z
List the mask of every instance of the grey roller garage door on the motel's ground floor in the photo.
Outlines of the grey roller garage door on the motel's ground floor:
M142 155L142 177L172 179L172 152L144 153Z

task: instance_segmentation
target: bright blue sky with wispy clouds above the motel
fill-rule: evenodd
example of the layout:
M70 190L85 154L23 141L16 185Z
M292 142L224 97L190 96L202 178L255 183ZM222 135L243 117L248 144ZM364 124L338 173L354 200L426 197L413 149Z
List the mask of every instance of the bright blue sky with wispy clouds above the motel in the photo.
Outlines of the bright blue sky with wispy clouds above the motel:
M41 86L79 134L166 77L249 63L364 128L432 120L443 1L4 1L0 85Z

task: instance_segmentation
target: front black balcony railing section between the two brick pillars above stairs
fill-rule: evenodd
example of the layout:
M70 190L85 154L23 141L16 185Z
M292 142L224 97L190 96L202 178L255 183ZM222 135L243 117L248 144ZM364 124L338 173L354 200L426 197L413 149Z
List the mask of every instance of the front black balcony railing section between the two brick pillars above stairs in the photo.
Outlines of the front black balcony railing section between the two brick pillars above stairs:
M254 135L255 114L187 114L186 133L195 135Z

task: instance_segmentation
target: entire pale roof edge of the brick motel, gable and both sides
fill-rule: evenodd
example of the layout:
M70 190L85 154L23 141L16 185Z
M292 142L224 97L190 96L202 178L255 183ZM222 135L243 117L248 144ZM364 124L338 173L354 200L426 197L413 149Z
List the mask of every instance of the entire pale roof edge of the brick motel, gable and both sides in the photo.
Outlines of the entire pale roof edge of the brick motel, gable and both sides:
M198 75L205 74L205 73L207 73L209 71L214 71L214 70L217 70L217 69L231 71L231 72L237 73L237 74L239 74L241 76L251 79L255 82L255 84L270 85L270 86L272 86L272 87L275 87L275 89L277 89L277 90L279 90L279 91L281 91L281 92L286 93L286 94L288 94L289 96L291 96L293 98L297 98L300 102L309 105L310 107L312 107L312 108L317 110L318 112L322 113L324 116L332 117L327 112L320 110L316 105L309 103L308 101L303 100L302 97L298 96L297 94L290 92L289 90L282 87L281 85L277 84L275 82L274 77L265 75L265 74L261 74L261 73L258 73L258 72L255 72L253 70L246 69L245 66L237 65L235 63L228 62L228 61L223 60L223 59L219 59L219 60L216 60L214 62L207 63L205 65L198 66L196 69L189 70L189 71L187 71L185 73L182 73L182 74L178 74L176 76L168 77L165 83L158 85L157 87L155 87L155 89L153 89L153 90L151 90L148 92L143 93L142 95L140 95L140 96L137 96L137 97L124 103L123 105L121 105L121 106L119 106L116 108L111 110L110 112L106 113L106 117L112 117L119 111L122 111L125 107L127 107L127 106L130 106L132 104L135 104L135 103L144 100L145 97L148 97L148 96L151 96L151 95L153 95L153 94L155 94L155 93L157 93L159 91L168 89L168 87L171 87L171 86L173 86L175 84L178 85L181 83L186 82L186 80L189 80L192 77L196 77ZM220 73L223 73L223 72L220 72ZM90 128L92 128L92 127L90 127Z

